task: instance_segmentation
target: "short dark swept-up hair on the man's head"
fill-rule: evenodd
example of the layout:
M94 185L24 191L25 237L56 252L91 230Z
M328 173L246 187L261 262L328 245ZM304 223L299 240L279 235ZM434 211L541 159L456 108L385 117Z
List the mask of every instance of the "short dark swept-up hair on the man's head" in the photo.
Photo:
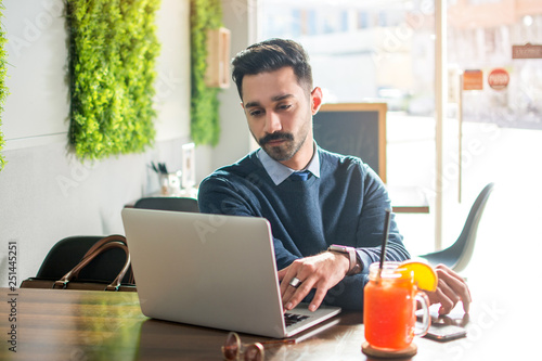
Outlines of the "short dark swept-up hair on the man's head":
M312 70L309 55L305 49L293 40L269 39L246 48L232 61L233 81L237 85L238 95L243 100L242 85L245 75L274 72L291 66L299 86L309 93L312 90Z

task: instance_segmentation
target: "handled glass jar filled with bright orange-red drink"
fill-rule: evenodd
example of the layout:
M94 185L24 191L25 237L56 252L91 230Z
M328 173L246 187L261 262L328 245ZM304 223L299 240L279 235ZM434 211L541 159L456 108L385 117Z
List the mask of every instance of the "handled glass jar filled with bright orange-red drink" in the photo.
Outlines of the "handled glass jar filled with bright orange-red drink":
M399 262L378 263L369 269L364 289L363 323L365 339L375 349L397 351L409 347L414 335L427 333L429 312L427 296L417 291L413 272L400 272ZM424 309L423 330L415 330L416 300Z

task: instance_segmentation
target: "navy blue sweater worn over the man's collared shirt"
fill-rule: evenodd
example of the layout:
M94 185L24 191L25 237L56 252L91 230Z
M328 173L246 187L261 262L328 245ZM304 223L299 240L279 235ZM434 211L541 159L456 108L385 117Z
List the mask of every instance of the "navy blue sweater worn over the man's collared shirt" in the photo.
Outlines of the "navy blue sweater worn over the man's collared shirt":
M379 261L385 209L391 208L378 176L361 159L318 147L320 178L271 180L256 152L218 169L199 185L202 212L263 217L271 223L279 270L332 244L353 246L363 263L330 289L324 304L363 308L369 265ZM391 219L387 260L410 257Z

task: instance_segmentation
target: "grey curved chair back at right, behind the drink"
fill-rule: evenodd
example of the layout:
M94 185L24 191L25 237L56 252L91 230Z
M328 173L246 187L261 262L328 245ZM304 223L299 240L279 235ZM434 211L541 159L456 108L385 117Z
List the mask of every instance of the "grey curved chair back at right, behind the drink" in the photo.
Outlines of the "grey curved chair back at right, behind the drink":
M431 265L443 263L456 272L463 271L467 267L473 256L478 224L480 223L483 208L488 203L493 188L494 183L489 183L480 192L473 207L470 208L470 211L468 212L468 217L465 225L463 227L463 231L453 245L446 249L421 255L418 257L426 259Z

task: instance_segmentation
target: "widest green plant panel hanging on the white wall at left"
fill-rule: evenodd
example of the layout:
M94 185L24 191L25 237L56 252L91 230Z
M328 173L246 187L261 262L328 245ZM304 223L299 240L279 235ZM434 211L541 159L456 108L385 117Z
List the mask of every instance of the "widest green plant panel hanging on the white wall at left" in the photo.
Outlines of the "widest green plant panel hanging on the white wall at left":
M159 0L66 0L69 142L80 158L142 152L155 138Z

